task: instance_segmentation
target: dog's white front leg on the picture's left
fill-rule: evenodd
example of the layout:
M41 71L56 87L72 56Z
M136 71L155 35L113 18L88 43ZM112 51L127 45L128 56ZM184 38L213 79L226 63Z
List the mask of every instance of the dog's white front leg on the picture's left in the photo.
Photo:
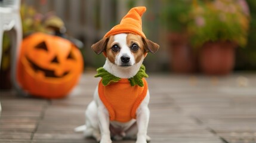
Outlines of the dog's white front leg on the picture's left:
M109 113L104 106L98 107L98 122L100 125L101 141L100 143L111 143L109 130Z

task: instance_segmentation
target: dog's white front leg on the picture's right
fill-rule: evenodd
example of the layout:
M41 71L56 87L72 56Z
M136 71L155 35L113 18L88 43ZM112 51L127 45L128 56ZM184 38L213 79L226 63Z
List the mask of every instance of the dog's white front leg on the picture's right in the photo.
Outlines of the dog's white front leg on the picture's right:
M149 125L149 115L149 108L147 106L143 106L137 111L138 134L136 143L147 142L147 126Z

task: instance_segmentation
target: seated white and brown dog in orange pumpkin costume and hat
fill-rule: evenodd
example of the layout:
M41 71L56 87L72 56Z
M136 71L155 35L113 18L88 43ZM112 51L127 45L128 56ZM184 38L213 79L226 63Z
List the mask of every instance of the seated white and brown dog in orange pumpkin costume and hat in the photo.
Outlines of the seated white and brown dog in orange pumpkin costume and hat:
M132 8L120 24L91 46L96 54L104 54L106 63L97 69L95 77L101 80L85 111L86 123L75 130L84 130L86 137L92 136L100 143L110 143L111 139L150 141L150 95L142 63L147 52L155 53L159 45L146 39L141 30L145 11L146 7Z

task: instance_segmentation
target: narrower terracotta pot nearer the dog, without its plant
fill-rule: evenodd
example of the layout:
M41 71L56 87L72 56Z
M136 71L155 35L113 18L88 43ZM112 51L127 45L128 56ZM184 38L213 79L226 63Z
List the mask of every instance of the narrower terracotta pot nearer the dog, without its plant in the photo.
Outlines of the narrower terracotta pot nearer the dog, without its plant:
M171 69L175 73L193 73L196 71L196 58L189 45L188 37L181 33L169 35Z

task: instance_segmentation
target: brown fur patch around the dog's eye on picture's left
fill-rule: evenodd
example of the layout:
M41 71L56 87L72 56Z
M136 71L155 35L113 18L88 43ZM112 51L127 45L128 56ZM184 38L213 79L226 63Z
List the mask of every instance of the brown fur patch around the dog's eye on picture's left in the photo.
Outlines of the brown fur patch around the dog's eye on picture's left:
M107 54L107 58L109 59L109 61L113 64L115 64L115 58L116 55L118 55L118 51L112 51L112 46L118 43L114 43L114 36L109 36L109 42L107 42L107 46L106 46L106 54Z

